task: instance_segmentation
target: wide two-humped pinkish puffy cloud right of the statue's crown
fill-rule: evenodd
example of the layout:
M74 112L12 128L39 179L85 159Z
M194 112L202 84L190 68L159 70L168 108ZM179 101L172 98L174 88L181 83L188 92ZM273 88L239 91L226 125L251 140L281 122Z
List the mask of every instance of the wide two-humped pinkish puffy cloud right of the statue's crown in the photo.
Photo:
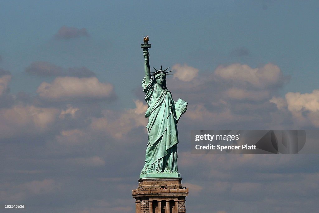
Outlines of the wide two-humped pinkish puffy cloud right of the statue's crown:
M220 65L215 75L234 84L258 89L282 86L284 77L279 67L266 64L261 68L251 68L248 65Z

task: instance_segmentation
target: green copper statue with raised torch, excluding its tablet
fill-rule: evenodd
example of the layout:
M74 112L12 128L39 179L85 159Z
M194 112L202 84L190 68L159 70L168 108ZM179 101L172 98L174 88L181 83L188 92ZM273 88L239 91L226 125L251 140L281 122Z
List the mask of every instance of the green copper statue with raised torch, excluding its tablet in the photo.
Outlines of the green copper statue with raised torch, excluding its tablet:
M148 40L147 40L148 41ZM145 154L145 165L140 178L180 177L177 170L177 121L174 100L166 87L166 70L150 71L149 52L150 44L142 44L145 77L142 87L145 92L145 101L148 109L145 117L149 119L146 126L148 144ZM182 109L183 113L187 110Z

